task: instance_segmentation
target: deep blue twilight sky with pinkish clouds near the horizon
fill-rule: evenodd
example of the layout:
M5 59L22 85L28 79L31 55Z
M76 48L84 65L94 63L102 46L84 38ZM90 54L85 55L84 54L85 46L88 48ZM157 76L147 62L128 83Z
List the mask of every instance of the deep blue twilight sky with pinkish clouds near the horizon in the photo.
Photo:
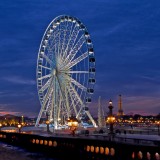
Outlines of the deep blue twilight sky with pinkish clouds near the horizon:
M35 116L39 45L57 16L77 17L87 27L96 57L98 97L114 112L122 95L125 114L160 113L159 0L0 0L0 113Z

